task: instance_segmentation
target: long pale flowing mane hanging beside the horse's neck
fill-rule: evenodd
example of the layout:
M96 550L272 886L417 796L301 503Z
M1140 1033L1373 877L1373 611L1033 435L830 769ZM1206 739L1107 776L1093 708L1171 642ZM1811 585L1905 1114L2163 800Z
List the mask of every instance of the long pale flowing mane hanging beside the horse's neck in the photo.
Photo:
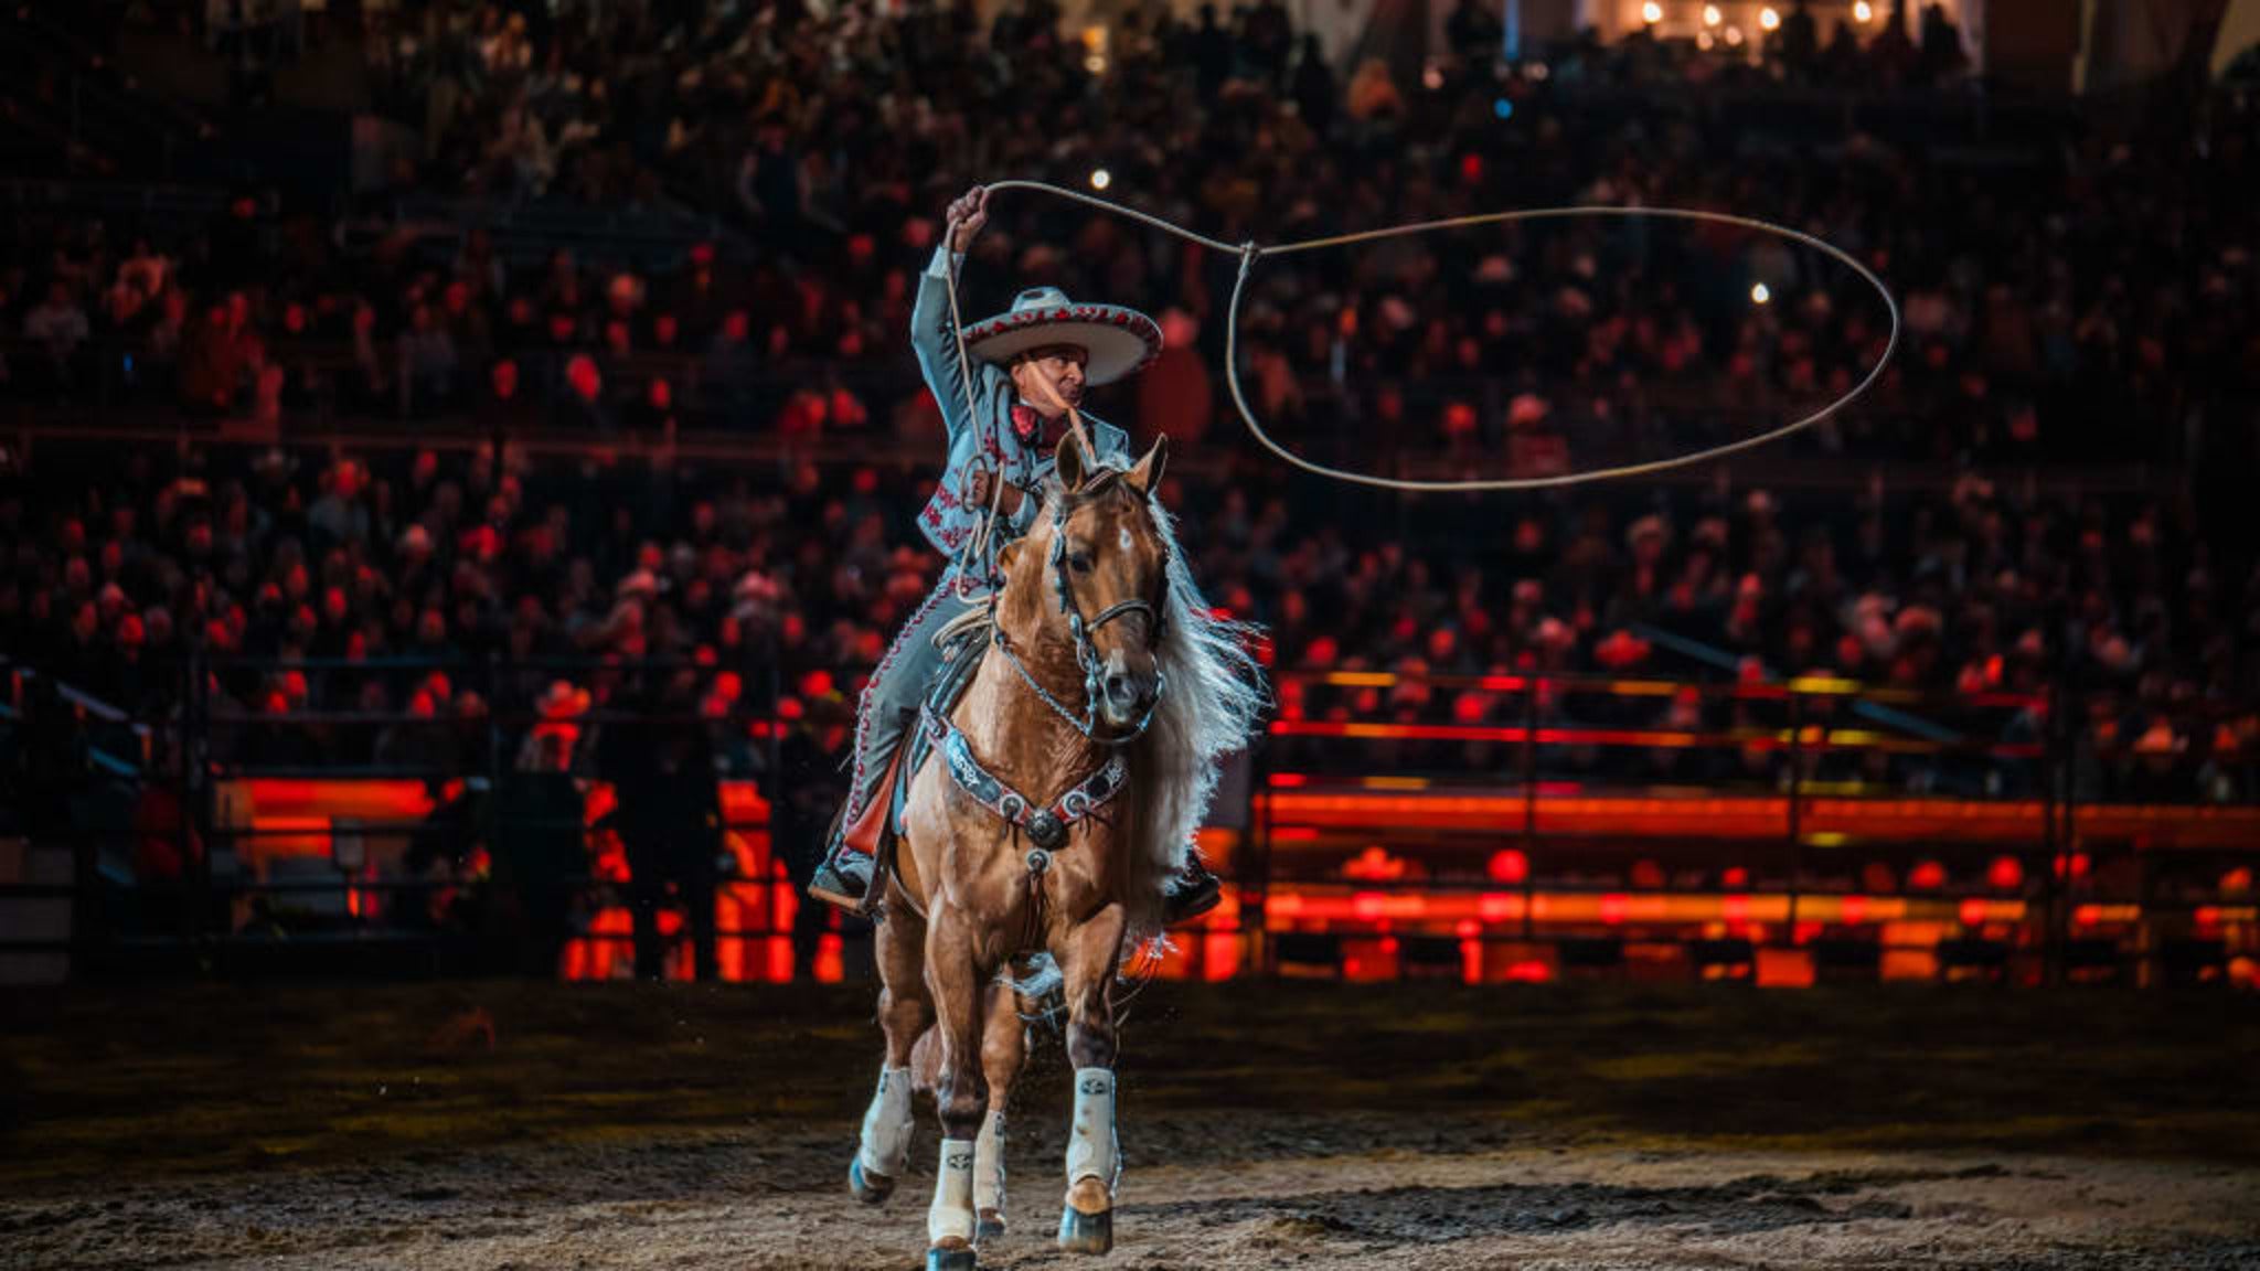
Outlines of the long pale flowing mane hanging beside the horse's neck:
M1105 473L1105 470L1103 470ZM1094 473L1083 493L1064 493L1058 482L1046 498L1080 500L1105 482ZM1125 486L1128 488L1128 486ZM1218 767L1225 755L1245 751L1270 697L1263 667L1248 651L1257 629L1248 622L1216 617L1184 550L1177 547L1175 518L1155 495L1144 495L1146 516L1162 541L1168 561L1168 636L1157 649L1164 685L1146 735L1130 744L1128 877L1123 907L1130 911L1132 941L1162 932L1162 884L1184 868L1216 794Z

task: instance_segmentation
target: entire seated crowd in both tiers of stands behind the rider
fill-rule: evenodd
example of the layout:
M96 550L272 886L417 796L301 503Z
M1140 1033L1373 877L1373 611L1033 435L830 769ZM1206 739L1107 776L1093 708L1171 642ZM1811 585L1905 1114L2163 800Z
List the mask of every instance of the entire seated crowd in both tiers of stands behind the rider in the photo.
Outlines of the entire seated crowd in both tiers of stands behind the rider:
M737 746L732 762L759 762L750 737L771 715L836 728L938 568L911 509L938 475L940 425L906 351L938 208L985 174L1087 185L1105 167L1112 192L1223 240L1546 204L1808 228L1889 278L1905 346L1874 398L1790 446L1975 466L1946 493L1722 479L1374 504L1354 520L1345 495L1252 461L1218 421L1236 260L1033 201L1001 215L967 262L972 305L1060 283L1164 319L1173 353L1096 409L1211 459L1166 498L1211 599L1268 624L1275 672L1677 674L1704 669L1693 645L1715 654L1713 674L1749 678L2018 692L2072 676L2118 690L2084 721L2097 735L2242 762L2249 783L2253 717L2192 726L2183 710L2260 692L2249 552L2215 543L2188 500L2036 493L1977 470L2192 459L2206 425L2251 427L2251 113L2222 109L2176 147L2066 124L2039 154L1973 165L1851 131L1822 161L1813 145L1740 145L1724 104L1851 77L1950 106L1966 88L1930 84L1953 79L1950 61L1919 43L1736 61L1636 38L1496 66L1467 18L1462 57L1399 81L1379 61L1329 66L1275 0L1193 25L1132 14L1103 50L1069 41L1042 0L988 29L967 14L411 5L371 18L389 104L420 111L407 183L723 210L721 233L658 267L522 265L484 228L441 258L407 233L353 249L332 222L258 197L194 226L18 219L0 256L0 323L23 335L5 346L11 396L99 387L264 423L282 446L120 459L43 443L0 493L0 647L154 712L179 706L167 667L185 647L680 660L660 697L728 721L725 760ZM1772 303L1751 303L1758 283ZM1336 461L1408 446L1494 475L1747 434L1846 389L1885 339L1876 301L1813 256L1598 224L1263 262L1241 321L1250 396L1281 434ZM574 459L287 446L294 421L325 414L597 439L671 439L680 423L805 446L759 470L601 446ZM931 461L843 464L825 450L841 436L904 439ZM570 710L576 692L603 703L621 672L466 676L221 663L212 685L224 712L481 721ZM554 678L579 688L558 697ZM1519 719L1507 697L1417 685L1281 688L1279 708ZM1659 724L1733 724L1693 701L1648 708ZM468 742L391 726L235 728L228 744L246 760L445 767Z

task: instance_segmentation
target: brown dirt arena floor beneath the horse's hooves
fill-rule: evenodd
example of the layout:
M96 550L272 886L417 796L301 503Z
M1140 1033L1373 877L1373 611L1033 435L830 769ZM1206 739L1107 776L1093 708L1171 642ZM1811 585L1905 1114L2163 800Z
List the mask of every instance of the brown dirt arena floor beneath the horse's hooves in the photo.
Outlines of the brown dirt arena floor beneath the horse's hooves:
M909 1269L877 1063L861 988L0 995L0 1266ZM1110 1266L2260 1266L2249 997L1157 984L1121 1072ZM1092 1264L1067 1099L985 1266Z

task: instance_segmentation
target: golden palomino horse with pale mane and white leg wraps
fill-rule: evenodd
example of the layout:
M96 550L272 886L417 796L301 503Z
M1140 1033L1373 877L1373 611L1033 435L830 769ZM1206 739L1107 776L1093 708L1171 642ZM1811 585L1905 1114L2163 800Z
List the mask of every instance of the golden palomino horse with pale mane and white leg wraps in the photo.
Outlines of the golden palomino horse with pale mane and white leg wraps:
M1060 443L1042 513L999 552L990 654L947 721L920 721L940 762L911 778L879 882L886 1070L850 1183L870 1203L893 1192L911 1065L938 1052L931 1271L974 1266L976 1242L1003 1233L1003 1108L1026 1034L999 975L1031 954L1060 968L1076 1067L1058 1242L1114 1242L1112 986L1125 941L1157 930L1216 758L1261 708L1243 631L1198 604L1153 500L1164 457L1157 441L1130 470L1092 468Z

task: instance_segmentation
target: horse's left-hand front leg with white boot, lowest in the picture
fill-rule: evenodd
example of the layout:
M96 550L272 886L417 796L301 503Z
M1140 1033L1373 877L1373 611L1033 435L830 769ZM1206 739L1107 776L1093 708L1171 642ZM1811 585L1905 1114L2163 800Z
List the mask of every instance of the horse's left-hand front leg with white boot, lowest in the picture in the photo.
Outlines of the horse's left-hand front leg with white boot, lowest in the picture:
M974 1140L988 1113L981 1074L981 1013L994 966L981 966L981 934L951 902L927 920L927 991L942 1038L942 1072L933 1101L942 1117L942 1158L927 1208L927 1271L974 1266Z

